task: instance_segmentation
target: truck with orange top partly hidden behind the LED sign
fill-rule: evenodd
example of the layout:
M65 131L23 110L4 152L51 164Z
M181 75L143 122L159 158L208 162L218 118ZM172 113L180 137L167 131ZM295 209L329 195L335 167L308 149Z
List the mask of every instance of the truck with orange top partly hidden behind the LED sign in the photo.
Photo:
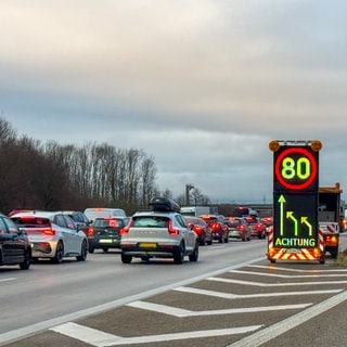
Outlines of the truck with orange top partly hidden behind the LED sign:
M340 194L343 190L336 182L333 187L320 187L318 190L318 222L323 236L325 253L332 259L338 255L339 231L343 210Z

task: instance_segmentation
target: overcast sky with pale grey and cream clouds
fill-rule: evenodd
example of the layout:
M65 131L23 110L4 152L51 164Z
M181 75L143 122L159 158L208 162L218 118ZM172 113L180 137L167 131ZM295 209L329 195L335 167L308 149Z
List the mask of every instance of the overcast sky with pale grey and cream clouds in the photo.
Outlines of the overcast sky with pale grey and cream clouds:
M0 111L21 134L153 155L160 189L270 203L269 141L322 142L347 192L345 0L1 0Z

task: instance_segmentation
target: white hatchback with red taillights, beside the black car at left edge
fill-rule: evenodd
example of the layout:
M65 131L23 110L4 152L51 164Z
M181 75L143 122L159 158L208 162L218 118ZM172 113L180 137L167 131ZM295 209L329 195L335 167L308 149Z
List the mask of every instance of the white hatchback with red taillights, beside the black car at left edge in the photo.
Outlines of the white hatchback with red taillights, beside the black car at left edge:
M78 261L87 259L86 233L62 211L24 211L12 215L11 219L27 233L33 245L33 260L44 258L61 264L66 257L76 257Z

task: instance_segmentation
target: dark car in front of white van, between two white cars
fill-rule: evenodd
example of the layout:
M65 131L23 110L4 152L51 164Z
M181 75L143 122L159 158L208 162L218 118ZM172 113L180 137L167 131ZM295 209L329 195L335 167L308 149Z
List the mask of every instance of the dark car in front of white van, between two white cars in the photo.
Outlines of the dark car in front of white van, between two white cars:
M87 228L89 253L101 248L120 248L120 230L128 224L130 217L95 218Z

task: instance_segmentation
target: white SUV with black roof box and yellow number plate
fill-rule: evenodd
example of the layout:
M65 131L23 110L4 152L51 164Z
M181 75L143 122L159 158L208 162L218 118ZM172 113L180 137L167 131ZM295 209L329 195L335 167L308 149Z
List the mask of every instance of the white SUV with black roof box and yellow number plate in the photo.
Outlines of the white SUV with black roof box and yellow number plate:
M151 210L138 211L120 231L120 257L123 264L132 258L149 261L151 258L174 258L175 264L197 261L198 240L179 213L176 202L168 197L156 197Z

